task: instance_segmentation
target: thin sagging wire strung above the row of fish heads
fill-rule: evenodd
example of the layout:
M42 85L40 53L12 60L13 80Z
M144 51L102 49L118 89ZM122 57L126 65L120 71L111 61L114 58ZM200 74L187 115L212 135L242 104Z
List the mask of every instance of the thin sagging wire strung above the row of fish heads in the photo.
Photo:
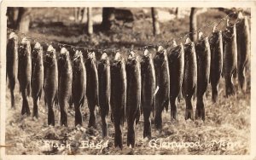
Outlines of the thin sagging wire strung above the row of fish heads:
M243 13L244 11L239 11L241 13ZM172 42L174 40L182 40L182 39L186 39L187 37L189 37L191 34L198 34L199 32L203 32L203 31L206 31L208 28L213 28L213 26L215 26L216 28L221 24L223 23L225 20L229 20L230 18L232 18L233 16L235 16L236 14L238 14L239 12L231 12L230 14L227 14L226 16L224 16L223 18L221 18L220 20L218 20L217 22L216 21L210 21L210 22L207 22L207 25L206 26L202 26L201 28L199 28L198 30L195 30L195 31L189 31L185 34L181 34L179 36L177 36L176 38L172 38L172 40L167 40L167 41L162 41L162 42L158 42L158 43L151 43L151 44L148 44L144 47L137 47L137 48L122 48L124 50L127 50L127 51L131 51L131 50L144 50L144 49L149 49L149 48L156 48L158 46L163 46L163 45L170 45L171 43L171 47L172 47ZM232 15L233 16L230 16ZM239 26L239 22L241 20L238 20L236 19L236 22L233 24L233 26ZM232 26L231 26L232 27ZM15 30L15 29L12 29L12 28L7 28L8 30L8 33L10 32L15 32L18 36L21 36L21 37L26 37L28 40L31 40L33 41L34 43L38 42L38 43L44 43L46 44L47 46L49 45L57 45L59 46L59 48L63 48L63 47L66 47L66 48L71 48L71 49L85 49L85 50L93 50L93 51L97 51L97 52L106 52L107 50L110 50L112 52L118 52L120 51L121 49L96 49L96 48L88 48L88 47L85 47L85 46L74 46L74 45L70 45L70 44L66 44L66 43L57 43L57 42L52 42L52 41L49 41L48 39L45 39L43 37L35 37L35 36L29 36L28 34L25 34L23 32L20 32L18 30ZM212 32L210 33L210 35L208 35L207 37L211 36L212 35Z

